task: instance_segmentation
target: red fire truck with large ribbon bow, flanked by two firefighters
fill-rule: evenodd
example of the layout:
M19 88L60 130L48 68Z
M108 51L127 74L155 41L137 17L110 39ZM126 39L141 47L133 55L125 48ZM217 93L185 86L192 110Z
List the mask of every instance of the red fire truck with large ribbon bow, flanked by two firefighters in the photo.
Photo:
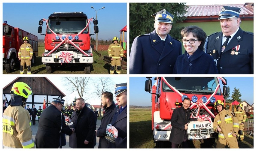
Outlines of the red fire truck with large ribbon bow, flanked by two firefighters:
M88 19L83 12L53 13L48 19L39 21L40 34L44 21L47 27L42 63L46 65L47 73L53 73L53 67L59 65L76 65L84 67L85 74L90 74L93 63L90 35L99 32L98 20ZM90 22L94 24L94 34L90 34Z

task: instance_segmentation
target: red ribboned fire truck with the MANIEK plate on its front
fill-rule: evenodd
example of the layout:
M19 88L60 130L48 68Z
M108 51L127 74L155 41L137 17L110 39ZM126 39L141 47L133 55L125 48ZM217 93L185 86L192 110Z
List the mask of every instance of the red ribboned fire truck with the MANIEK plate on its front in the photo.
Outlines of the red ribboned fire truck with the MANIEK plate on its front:
M189 140L200 140L203 146L212 146L215 137L213 120L217 112L216 100L224 100L227 95L226 79L223 77L156 77L152 86L151 77L145 82L145 91L152 94L152 131L157 148L170 144L173 110L182 106L184 98L191 99L191 118L201 118L203 122L189 122ZM222 81L223 93L219 81ZM152 87L152 89L151 89ZM152 92L151 92L152 91ZM170 147L170 146L169 146Z

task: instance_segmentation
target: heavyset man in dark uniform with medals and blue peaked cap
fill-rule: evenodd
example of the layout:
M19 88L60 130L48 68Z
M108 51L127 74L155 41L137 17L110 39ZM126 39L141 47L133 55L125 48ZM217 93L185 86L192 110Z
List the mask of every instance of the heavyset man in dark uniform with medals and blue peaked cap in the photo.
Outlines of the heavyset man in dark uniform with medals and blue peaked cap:
M206 38L205 52L212 55L219 74L253 74L253 33L239 27L241 8L223 6L221 31Z

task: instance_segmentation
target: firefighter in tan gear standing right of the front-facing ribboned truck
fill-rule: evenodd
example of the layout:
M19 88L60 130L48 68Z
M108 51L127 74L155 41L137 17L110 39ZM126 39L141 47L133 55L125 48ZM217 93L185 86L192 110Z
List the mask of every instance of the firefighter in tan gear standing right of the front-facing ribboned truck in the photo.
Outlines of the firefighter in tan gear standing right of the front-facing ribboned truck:
M112 44L108 46L108 56L110 57L110 74L114 74L115 66L117 74L121 74L121 60L123 59L123 48L118 44L118 38L114 37Z

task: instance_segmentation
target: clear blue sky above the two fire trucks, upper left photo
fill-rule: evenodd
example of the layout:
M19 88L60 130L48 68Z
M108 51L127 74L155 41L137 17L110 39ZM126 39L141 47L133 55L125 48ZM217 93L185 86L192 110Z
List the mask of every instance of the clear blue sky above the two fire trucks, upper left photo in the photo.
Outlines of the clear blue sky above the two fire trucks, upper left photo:
M38 34L39 20L48 19L53 12L84 12L88 18L96 18L96 11L91 6L96 11L105 7L97 11L98 39L109 40L115 36L119 38L120 29L127 24L126 3L3 3L3 20L11 26L19 27L38 36L38 39L44 39L44 35ZM93 24L90 28L93 29ZM46 24L44 23L42 34L45 34L45 31ZM91 37L96 38L96 35Z

